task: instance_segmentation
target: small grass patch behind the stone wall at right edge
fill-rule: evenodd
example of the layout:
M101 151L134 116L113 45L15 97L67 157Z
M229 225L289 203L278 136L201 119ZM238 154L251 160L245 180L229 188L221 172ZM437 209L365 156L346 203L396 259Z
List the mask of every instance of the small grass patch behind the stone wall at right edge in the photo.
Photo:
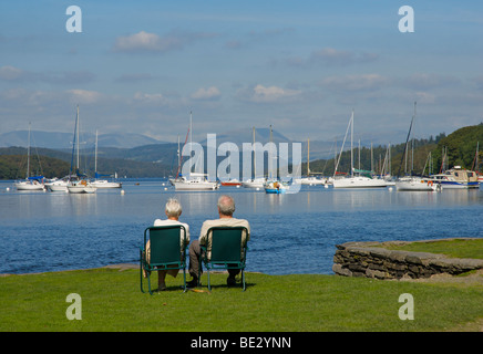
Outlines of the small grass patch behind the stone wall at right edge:
M483 238L482 239L450 239L432 242L411 242L408 244L389 244L387 249L412 251L412 252L430 252L445 254L451 258L473 258L483 259Z

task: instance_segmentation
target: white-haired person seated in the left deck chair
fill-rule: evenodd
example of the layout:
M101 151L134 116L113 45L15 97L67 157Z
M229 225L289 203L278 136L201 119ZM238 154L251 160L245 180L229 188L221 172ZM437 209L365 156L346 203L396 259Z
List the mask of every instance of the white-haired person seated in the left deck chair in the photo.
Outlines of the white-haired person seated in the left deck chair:
M154 226L183 225L186 229L186 238L183 238L183 230L182 230L179 232L179 242L182 242L181 248L184 249L184 247L189 244L189 226L187 223L178 221L182 211L183 211L183 209L182 209L179 201L177 201L174 198L169 198L167 200L165 209L164 209L164 212L166 214L167 219L166 220L156 219L156 220L154 220ZM183 244L183 240L185 241L184 244ZM151 261L150 240L147 240L147 242L146 242L146 261L147 262ZM166 283L165 283L166 274L169 274L173 278L176 278L178 272L179 272L179 269L158 270L157 271L158 290L161 290L161 291L166 290ZM146 278L145 273L144 273L144 278Z

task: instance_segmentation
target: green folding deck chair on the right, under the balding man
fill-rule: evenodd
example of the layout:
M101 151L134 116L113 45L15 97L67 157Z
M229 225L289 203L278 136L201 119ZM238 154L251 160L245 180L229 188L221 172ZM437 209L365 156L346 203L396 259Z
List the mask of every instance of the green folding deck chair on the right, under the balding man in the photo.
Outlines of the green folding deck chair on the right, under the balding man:
M218 269L239 269L242 271L243 290L245 291L245 266L248 247L242 244L242 235L248 230L245 227L213 227L207 235L212 232L212 258L207 259L206 244L202 244L202 261L208 273L208 290L212 290L209 271ZM199 272L201 272L199 267ZM198 274L198 279L199 279Z

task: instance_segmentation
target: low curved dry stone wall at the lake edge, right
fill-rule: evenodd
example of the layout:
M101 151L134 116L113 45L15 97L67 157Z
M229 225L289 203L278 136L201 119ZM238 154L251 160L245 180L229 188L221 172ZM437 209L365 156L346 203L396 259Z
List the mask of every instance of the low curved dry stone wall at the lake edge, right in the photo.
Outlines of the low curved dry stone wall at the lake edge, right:
M410 242L347 242L337 244L332 271L346 277L419 279L441 273L458 275L471 270L483 269L483 260L448 258L443 254L388 250L380 247L387 243L404 244Z

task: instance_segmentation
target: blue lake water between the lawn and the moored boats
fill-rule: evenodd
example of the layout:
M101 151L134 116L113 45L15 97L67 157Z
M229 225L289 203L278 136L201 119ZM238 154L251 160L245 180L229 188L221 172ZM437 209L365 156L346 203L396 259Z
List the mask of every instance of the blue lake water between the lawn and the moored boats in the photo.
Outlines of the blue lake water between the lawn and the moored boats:
M247 271L268 274L331 274L336 244L348 241L483 237L481 187L421 192L304 186L294 195L267 195L233 187L176 192L165 180L140 179L123 181L123 190L21 192L0 181L0 273L137 263L143 231L165 218L169 197L181 201L181 221L194 240L204 220L218 217L220 194L232 195L235 217L251 227Z

